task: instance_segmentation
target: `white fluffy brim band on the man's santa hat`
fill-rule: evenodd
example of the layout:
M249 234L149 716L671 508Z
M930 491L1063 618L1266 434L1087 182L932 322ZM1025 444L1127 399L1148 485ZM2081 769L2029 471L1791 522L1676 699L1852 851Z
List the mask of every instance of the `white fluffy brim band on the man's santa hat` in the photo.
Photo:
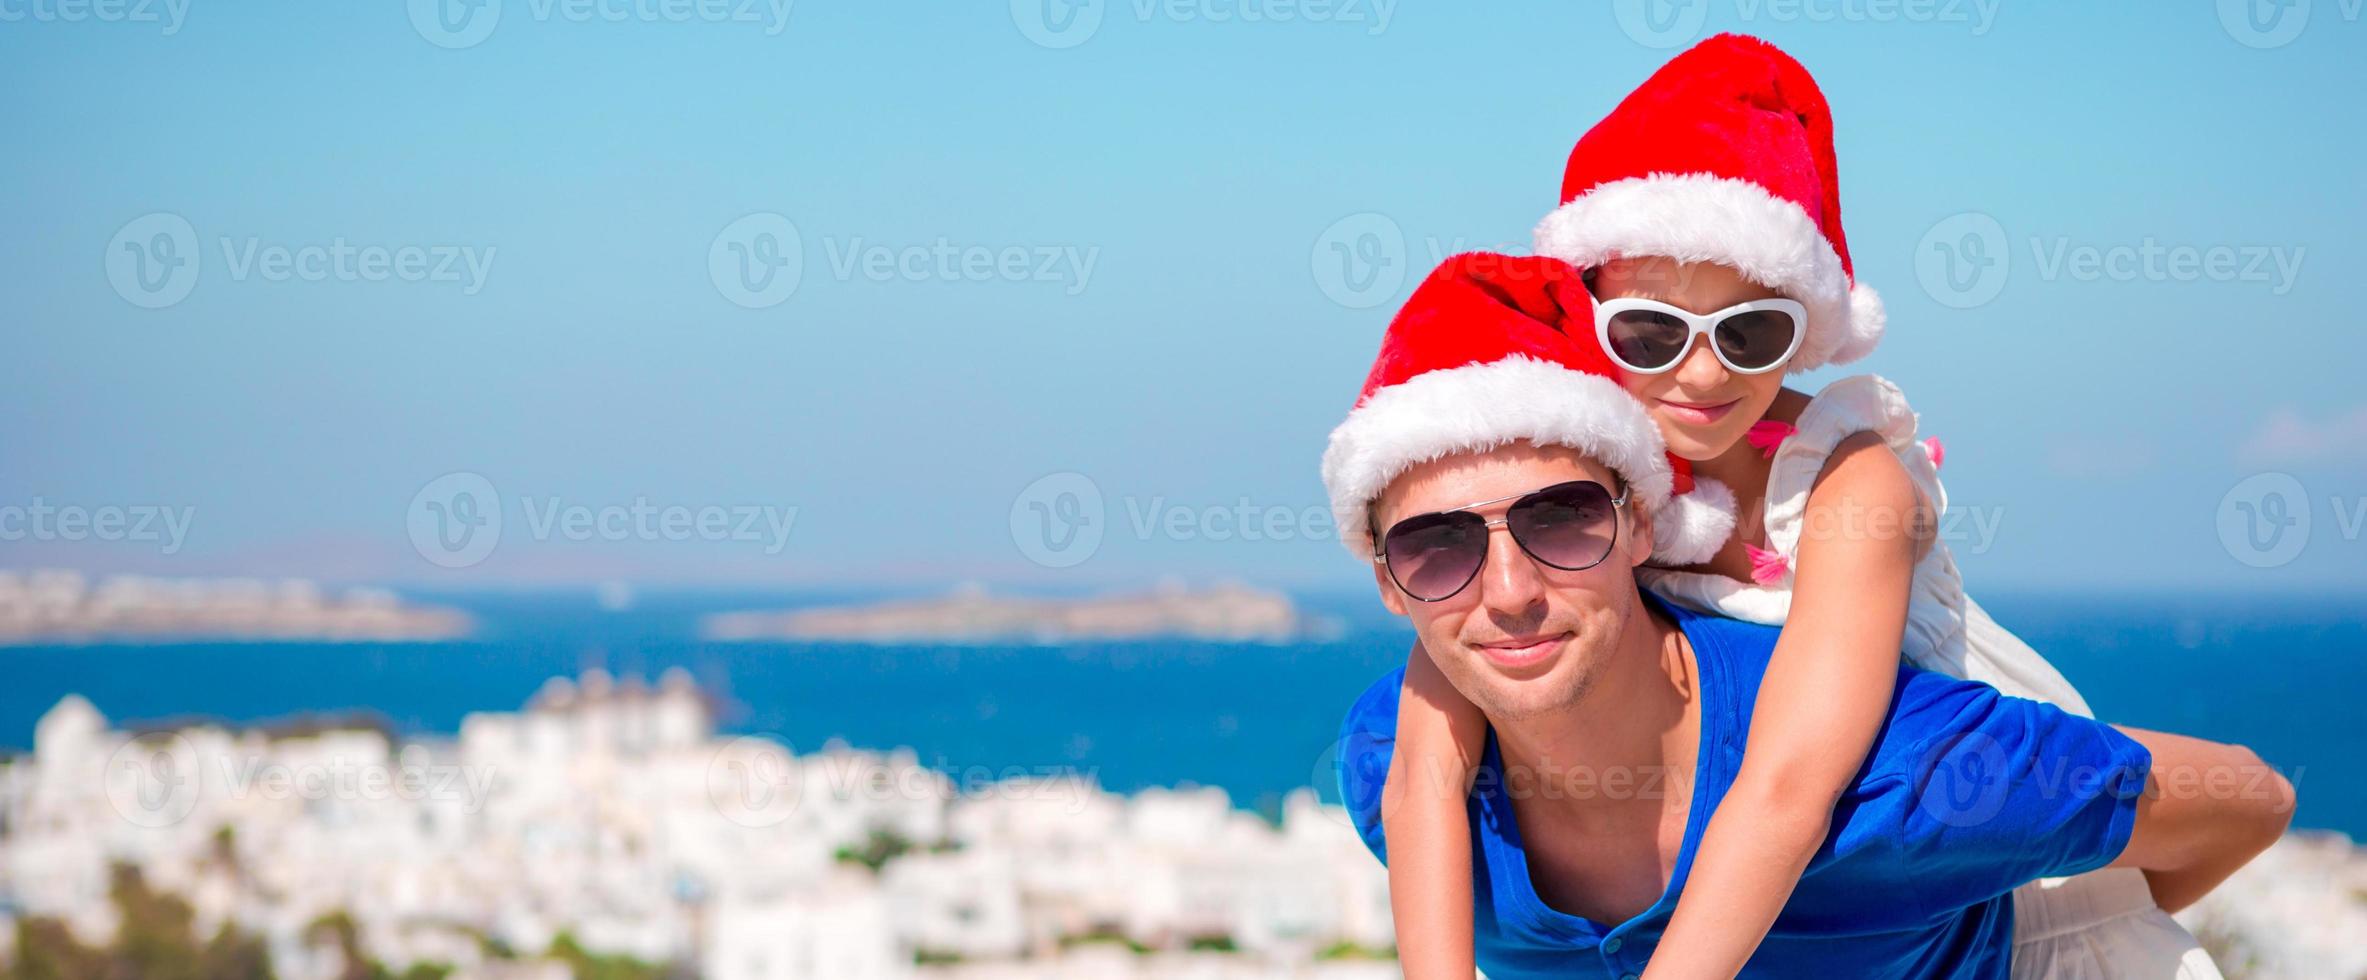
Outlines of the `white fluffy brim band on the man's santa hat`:
M1636 395L1598 374L1513 355L1380 388L1333 428L1323 488L1340 544L1359 559L1373 556L1368 509L1399 473L1522 440L1567 445L1619 471L1628 507L1659 514L1669 499L1669 457Z

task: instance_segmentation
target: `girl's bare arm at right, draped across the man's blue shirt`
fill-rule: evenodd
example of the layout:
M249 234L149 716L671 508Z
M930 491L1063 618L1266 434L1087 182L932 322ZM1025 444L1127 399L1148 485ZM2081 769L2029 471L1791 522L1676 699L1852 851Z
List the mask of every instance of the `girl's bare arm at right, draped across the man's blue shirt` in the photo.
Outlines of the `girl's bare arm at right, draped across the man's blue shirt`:
M1929 533L1879 436L1851 436L1825 459L1742 772L1709 819L1647 980L1733 978L1792 897L1889 710Z

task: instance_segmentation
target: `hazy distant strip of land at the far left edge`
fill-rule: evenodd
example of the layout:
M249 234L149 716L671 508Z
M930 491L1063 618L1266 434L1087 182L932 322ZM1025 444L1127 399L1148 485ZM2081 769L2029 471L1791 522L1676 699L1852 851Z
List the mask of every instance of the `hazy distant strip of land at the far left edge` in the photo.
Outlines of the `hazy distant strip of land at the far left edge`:
M476 623L452 608L409 606L386 589L329 594L286 578L114 575L0 570L0 646L178 644L189 639L431 641Z

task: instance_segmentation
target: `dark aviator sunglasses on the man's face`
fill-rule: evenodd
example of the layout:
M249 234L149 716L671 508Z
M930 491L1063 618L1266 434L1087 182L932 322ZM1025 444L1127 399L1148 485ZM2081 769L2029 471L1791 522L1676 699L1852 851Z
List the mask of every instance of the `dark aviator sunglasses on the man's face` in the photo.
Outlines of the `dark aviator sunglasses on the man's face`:
M1513 507L1489 521L1475 507ZM1420 601L1442 601L1463 592L1486 563L1489 530L1503 526L1531 559L1560 570L1584 570L1602 563L1619 540L1619 507L1626 492L1612 497L1602 483L1569 481L1513 497L1482 499L1446 511L1415 514L1389 526L1373 561L1389 570L1401 592Z

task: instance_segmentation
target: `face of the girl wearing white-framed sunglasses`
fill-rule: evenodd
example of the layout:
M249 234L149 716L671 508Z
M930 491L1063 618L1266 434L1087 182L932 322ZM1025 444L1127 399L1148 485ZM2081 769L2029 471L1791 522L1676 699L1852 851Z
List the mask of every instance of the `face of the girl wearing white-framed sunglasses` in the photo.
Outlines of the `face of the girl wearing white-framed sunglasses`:
M1595 267L1598 301L1643 296L1692 312L1718 312L1735 303L1778 298L1782 294L1749 282L1742 272L1716 263L1678 263L1673 258L1614 258ZM1754 421L1763 419L1782 372L1735 374L1709 350L1709 339L1695 339L1683 360L1662 374L1619 372L1619 383L1652 412L1669 452L1685 459L1716 459L1742 443Z

